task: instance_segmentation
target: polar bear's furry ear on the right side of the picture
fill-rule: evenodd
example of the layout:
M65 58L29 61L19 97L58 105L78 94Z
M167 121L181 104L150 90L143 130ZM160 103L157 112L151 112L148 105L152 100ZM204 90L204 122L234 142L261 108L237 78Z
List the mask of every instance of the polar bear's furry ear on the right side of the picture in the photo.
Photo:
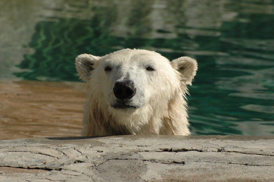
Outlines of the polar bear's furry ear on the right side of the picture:
M191 57L179 57L170 62L171 66L181 73L182 81L191 85L198 69L197 61Z

